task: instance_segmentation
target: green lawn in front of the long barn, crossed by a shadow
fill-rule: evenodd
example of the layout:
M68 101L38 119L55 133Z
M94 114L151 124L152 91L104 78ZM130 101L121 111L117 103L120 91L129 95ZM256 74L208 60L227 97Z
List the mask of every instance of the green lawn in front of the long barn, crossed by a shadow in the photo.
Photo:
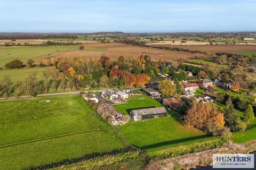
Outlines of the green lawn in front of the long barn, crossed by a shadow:
M118 129L132 145L148 151L150 155L154 155L154 151L158 150L215 139L203 131L183 124L172 112L170 115L131 122L118 126Z

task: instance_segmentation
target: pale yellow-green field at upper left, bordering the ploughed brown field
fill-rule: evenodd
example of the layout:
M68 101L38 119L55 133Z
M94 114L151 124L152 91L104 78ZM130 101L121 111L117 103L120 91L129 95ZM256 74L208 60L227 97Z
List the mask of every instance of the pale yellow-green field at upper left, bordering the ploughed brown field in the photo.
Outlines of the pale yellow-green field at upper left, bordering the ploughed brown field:
M18 59L26 62L28 59L35 60L44 57L48 54L56 53L61 50L79 49L77 45L69 46L14 46L0 48L0 68L12 60ZM90 47L85 47L84 50L101 50ZM9 53L9 55L8 55Z

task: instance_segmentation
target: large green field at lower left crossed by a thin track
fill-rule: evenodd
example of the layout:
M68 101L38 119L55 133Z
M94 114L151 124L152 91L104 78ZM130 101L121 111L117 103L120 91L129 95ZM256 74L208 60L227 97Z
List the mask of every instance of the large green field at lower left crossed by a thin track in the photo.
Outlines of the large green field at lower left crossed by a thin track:
M80 96L1 101L0 108L0 169L22 169L126 147Z

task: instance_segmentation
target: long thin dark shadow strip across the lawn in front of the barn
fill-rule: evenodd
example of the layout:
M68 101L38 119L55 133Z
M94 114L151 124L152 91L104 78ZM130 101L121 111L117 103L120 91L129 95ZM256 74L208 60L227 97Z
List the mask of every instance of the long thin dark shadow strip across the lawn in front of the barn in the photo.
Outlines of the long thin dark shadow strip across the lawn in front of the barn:
M204 138L209 138L210 135L201 135L198 137L190 137L190 138L183 138L183 139L177 139L177 140L171 140L171 141L166 141L166 142L160 142L160 143L155 143L153 145L148 145L145 147L141 147L140 149L152 149L152 148L157 148L157 147L162 147L165 145L174 145L177 143L181 143L181 142L188 142L188 141L193 141L193 140L197 140L197 139L204 139Z

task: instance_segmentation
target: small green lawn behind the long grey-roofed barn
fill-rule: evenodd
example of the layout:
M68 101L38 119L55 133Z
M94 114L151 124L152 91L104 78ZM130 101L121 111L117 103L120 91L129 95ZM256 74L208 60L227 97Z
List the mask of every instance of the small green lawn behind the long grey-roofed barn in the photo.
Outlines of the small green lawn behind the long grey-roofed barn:
M128 100L128 103L121 105L114 105L114 107L121 113L128 115L134 109L163 107L157 103L156 100L151 99L147 95L134 96Z

